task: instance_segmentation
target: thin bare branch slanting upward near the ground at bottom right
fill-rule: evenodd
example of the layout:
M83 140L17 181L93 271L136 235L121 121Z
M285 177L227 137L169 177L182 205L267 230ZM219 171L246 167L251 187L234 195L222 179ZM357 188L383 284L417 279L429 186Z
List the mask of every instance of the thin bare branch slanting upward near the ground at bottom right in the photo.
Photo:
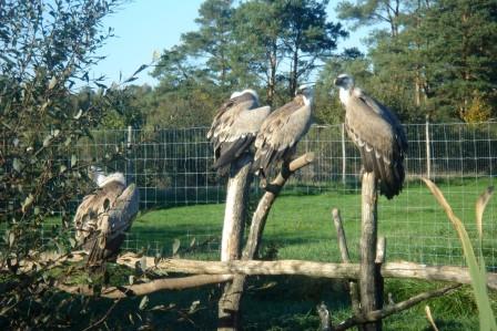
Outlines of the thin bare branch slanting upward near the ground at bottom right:
M384 309L381 310L374 310L374 311L369 311L366 314L363 316L354 316L345 321L343 321L342 323L339 323L338 325L335 327L335 331L342 331L342 330L347 330L352 327L355 327L357 324L363 324L366 322L375 322L375 321L379 321L386 317L389 317L390 314L400 312L403 310L409 309L410 307L424 301L424 300L428 300L432 298L437 298L437 297L442 297L446 293L448 293L449 291L456 289L460 287L459 283L456 285L450 285L447 286L445 288L435 290L435 291L430 291L430 292L423 292L420 294L417 294L413 298L409 298L405 301L398 302L396 304L392 304L392 306L387 306Z

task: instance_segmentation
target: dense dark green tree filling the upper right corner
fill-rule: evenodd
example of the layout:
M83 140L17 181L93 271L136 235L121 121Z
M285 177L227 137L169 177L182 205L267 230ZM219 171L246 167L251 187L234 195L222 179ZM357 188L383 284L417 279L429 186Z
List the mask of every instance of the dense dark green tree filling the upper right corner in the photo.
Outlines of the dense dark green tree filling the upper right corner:
M435 1L419 30L429 41L424 56L433 112L467 122L495 115L497 3Z

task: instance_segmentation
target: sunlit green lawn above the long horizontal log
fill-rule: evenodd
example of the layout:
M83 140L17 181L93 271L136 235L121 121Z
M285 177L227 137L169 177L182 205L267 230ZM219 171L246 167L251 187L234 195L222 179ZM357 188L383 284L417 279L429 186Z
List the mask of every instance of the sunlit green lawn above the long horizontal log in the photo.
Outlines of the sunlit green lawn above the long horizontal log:
M442 184L447 199L462 216L471 238L476 234L474 201L486 187L483 182ZM252 197L252 208L256 197ZM347 241L353 259L357 259L361 232L361 196L356 193L328 192L320 195L283 194L276 200L263 236L264 247L277 248L281 259L338 261L339 252L331 209L338 207L344 218ZM495 204L490 201L485 217L484 255L487 266L497 266L497 226L493 221ZM224 204L195 205L152 210L141 215L131 231L131 246L158 248L171 255L174 239L187 246L207 239L209 246L189 257L219 258ZM418 183L409 183L403 194L393 200L379 200L379 235L387 239L389 260L409 260L436 265L463 265L460 244L452 225L429 192Z

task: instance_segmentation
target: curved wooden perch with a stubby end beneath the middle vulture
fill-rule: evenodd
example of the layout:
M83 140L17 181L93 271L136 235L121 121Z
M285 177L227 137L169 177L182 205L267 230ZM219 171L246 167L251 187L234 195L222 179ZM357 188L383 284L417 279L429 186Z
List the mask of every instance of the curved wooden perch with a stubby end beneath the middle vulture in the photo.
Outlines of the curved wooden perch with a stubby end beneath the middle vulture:
M302 155L291 162L290 165L283 166L282 172L271 183L268 190L266 190L258 201L257 209L252 216L251 230L248 232L245 248L243 249L242 260L252 260L255 257L267 215L270 214L271 207L273 206L274 200L282 190L286 180L294 172L308 165L313 162L313 153ZM233 282L226 285L226 289L222 298L222 300L226 303L223 306L220 303L217 330L229 331L240 329L240 301L243 294L245 277L246 276L237 275L233 279Z

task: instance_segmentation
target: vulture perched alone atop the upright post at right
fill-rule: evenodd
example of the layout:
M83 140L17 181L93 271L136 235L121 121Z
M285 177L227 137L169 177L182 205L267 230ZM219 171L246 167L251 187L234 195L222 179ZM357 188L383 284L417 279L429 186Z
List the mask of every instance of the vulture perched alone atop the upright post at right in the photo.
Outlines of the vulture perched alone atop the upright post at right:
M361 152L363 169L374 172L381 194L392 199L400 193L405 178L404 128L388 107L356 87L351 75L338 75L335 85L345 107L345 128Z

